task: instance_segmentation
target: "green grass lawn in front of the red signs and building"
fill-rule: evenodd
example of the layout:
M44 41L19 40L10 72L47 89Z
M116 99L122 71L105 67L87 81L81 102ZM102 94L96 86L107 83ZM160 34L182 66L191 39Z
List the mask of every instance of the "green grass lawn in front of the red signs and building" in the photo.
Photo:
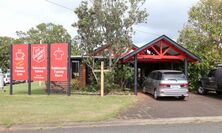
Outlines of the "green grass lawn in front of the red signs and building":
M14 95L10 96L9 86L5 93L0 92L0 125L6 127L107 120L136 101L135 96L48 96L38 82L32 83L31 96L27 94L26 83L14 85L13 92Z

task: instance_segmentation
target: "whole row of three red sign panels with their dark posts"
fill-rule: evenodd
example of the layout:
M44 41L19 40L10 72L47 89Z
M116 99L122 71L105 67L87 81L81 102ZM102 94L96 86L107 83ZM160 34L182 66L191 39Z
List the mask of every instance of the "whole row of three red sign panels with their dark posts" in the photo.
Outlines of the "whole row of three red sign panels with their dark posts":
M28 95L31 81L47 81L50 95L51 81L67 81L70 96L70 44L14 44L10 47L10 95L13 80L28 80Z

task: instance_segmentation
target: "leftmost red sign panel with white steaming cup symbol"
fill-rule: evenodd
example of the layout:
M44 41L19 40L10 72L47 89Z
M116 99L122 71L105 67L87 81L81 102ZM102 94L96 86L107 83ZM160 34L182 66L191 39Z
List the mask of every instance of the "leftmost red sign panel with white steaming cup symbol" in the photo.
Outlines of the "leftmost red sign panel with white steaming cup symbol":
M12 80L28 79L28 45L14 44L12 46Z

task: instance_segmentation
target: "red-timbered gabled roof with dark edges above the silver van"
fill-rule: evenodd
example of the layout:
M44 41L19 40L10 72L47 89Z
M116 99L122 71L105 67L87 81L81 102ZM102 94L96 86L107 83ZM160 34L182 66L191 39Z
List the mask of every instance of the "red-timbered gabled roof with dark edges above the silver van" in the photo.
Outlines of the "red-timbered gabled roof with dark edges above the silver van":
M123 56L121 61L127 62L133 60L137 55L138 62L142 61L172 61L188 59L190 62L199 61L199 57L191 53L186 48L182 47L169 37L162 35L157 39L145 44L144 46L136 49L135 51Z

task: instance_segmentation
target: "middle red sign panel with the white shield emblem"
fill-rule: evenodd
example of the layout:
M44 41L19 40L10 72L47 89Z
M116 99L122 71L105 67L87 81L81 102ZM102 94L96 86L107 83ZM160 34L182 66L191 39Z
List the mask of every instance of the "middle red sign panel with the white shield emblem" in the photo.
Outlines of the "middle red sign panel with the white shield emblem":
M47 80L47 44L31 45L31 80Z

